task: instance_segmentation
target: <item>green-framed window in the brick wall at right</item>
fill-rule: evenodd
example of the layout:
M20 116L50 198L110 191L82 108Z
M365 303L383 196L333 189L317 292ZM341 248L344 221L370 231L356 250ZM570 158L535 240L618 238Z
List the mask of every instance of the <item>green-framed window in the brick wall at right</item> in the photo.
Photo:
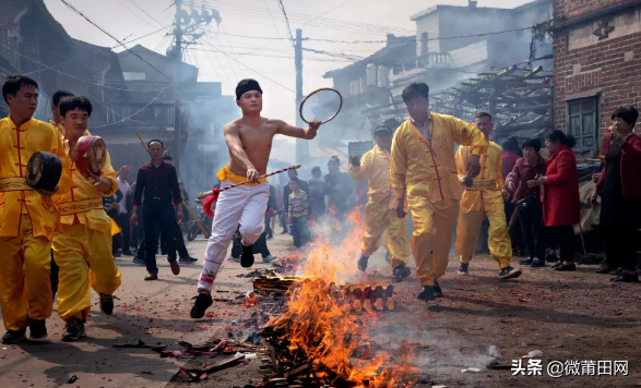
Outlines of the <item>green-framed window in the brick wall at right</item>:
M577 140L574 150L596 148L598 138L598 97L568 101L568 133Z

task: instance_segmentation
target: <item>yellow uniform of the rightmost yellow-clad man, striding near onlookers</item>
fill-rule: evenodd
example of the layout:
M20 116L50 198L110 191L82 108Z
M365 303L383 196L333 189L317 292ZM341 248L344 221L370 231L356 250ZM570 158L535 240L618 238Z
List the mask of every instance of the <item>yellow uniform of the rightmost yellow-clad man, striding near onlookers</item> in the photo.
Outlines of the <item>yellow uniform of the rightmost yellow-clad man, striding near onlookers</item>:
M466 174L470 147L456 151L459 178ZM510 266L512 243L508 234L506 210L503 207L503 179L501 174L501 147L490 142L480 155L480 173L474 179L472 187L466 187L461 199L459 223L456 225L456 252L461 263L467 264L476 251L476 240L485 216L489 220L488 245L491 257L501 269Z

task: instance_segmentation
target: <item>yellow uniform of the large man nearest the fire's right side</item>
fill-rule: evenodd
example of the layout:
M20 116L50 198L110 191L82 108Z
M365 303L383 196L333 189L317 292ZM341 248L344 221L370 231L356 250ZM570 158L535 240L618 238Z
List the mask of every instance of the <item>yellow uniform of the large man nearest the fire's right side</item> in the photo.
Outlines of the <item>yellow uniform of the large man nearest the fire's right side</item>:
M412 253L422 286L434 286L444 275L461 199L454 143L468 145L477 155L487 141L475 125L451 116L431 113L430 141L412 120L405 121L392 142L391 182L396 198L412 210Z

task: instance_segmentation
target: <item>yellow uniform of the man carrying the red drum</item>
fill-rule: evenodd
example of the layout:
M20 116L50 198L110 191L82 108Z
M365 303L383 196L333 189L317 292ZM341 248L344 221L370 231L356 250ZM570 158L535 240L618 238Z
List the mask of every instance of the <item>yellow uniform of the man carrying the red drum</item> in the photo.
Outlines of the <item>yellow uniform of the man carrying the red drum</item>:
M62 173L70 178L66 180L69 187L54 197L61 223L52 243L54 259L60 267L58 315L66 322L72 317L84 320L91 311L91 288L110 295L120 287L120 270L111 253L111 235L119 230L114 230L114 220L103 209L103 196L112 196L118 183L108 153L100 177L111 181L111 190L102 193L73 165L69 141L64 141L64 150Z

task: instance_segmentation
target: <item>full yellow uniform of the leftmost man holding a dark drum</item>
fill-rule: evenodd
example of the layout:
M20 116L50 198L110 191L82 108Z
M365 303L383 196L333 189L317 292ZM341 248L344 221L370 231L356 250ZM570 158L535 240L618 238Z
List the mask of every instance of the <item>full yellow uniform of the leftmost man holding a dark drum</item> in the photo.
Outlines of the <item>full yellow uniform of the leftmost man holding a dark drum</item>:
M0 120L0 308L7 330L24 329L27 316L46 319L52 308L50 252L58 214L52 198L25 184L35 151L64 157L49 124Z

